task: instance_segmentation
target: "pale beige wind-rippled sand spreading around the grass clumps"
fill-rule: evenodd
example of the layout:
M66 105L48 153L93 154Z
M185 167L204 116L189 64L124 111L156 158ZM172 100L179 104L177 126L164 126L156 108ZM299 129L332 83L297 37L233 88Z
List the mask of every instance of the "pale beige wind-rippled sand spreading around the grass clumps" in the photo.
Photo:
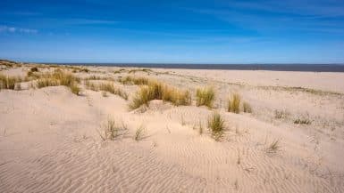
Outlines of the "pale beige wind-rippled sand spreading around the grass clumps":
M76 76L148 76L189 89L191 106L151 101L128 109L138 85L113 83L129 101L83 86L0 91L0 192L343 192L344 73L158 69L130 73L88 67ZM133 69L133 68L127 68ZM4 68L25 76L29 67ZM39 70L48 70L39 68ZM214 109L195 106L198 87L213 85ZM231 92L253 113L226 112ZM286 117L276 118L275 110ZM225 119L222 141L206 122ZM102 141L109 116L129 133ZM294 121L306 118L310 125ZM204 133L199 133L199 126ZM138 127L144 138L135 141ZM267 153L275 140L280 149Z

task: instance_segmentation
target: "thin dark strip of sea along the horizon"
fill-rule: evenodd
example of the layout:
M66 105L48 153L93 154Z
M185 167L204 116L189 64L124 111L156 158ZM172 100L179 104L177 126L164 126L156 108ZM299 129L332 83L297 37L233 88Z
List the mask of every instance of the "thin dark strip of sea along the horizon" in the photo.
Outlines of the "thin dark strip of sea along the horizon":
M49 63L53 64L53 63ZM164 64L164 63L54 63L65 65L138 67L138 68L189 68L238 69L308 72L344 72L344 64Z

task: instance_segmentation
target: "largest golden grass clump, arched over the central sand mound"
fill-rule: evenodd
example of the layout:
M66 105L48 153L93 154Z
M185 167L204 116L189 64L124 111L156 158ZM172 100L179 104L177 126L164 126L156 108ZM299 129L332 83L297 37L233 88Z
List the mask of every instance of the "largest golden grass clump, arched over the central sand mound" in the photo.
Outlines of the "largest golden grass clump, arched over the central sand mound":
M138 109L141 105L147 105L148 101L152 100L170 101L177 106L191 104L188 91L180 91L158 81L149 81L147 85L140 87L129 107L130 109Z

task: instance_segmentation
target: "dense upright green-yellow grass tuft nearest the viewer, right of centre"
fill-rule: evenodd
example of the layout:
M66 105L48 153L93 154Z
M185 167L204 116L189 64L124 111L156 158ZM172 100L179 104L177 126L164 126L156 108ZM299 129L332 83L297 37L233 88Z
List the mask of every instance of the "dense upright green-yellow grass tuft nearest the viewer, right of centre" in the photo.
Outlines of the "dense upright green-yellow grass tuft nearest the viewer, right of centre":
M222 138L225 125L224 120L219 113L214 113L208 119L208 128L210 129L212 136L216 141L219 141Z

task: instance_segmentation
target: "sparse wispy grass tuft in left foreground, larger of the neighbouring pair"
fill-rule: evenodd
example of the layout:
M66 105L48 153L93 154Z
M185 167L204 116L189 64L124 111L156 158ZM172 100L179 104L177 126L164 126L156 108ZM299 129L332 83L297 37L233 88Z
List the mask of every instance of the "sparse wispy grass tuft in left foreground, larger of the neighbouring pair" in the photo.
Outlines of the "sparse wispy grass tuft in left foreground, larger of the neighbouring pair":
M103 141L114 141L117 137L128 133L128 127L122 123L119 125L113 117L108 117L105 124L102 125L102 131L97 131Z

